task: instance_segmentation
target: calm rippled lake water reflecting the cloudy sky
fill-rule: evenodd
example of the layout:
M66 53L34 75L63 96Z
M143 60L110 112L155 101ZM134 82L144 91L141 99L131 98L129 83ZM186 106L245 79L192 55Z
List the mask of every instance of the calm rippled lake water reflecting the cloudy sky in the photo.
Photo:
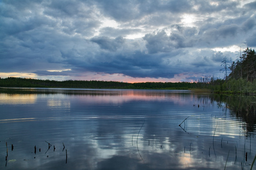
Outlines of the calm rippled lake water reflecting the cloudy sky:
M248 111L255 103L241 114L234 107L246 97L229 98L234 106L222 98L173 90L2 90L0 169L250 169L256 125L255 110Z

